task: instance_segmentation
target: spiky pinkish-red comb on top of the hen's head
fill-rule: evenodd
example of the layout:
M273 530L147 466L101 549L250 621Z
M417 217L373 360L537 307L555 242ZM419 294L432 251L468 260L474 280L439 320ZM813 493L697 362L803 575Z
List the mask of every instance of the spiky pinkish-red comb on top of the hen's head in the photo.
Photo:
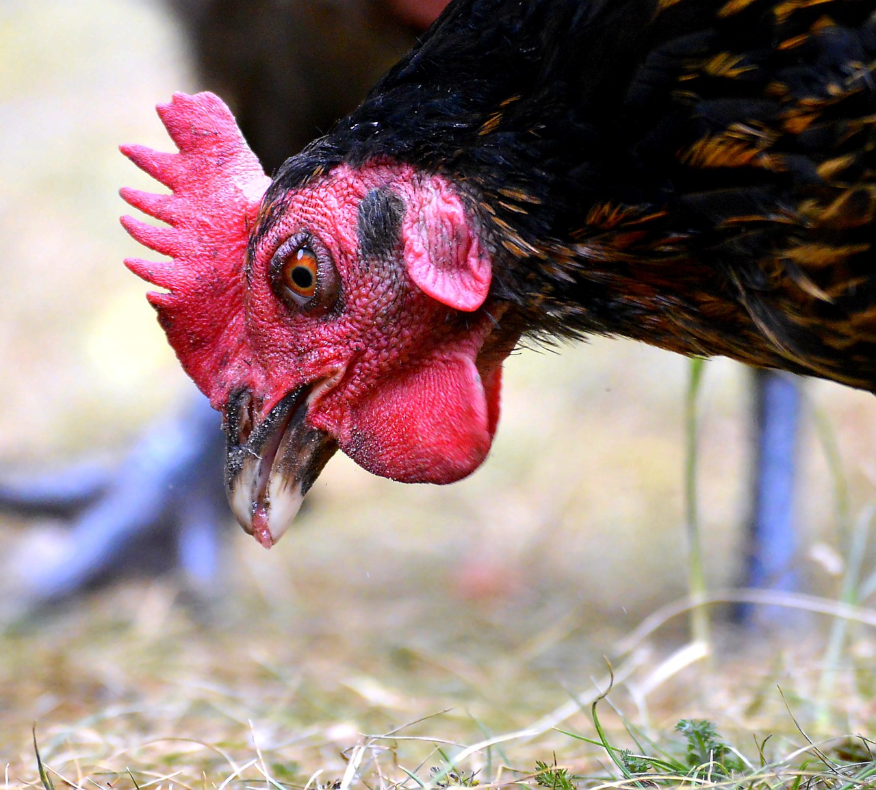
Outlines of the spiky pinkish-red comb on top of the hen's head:
M173 260L124 263L169 292L147 298L180 363L219 406L244 376L246 244L270 179L218 96L178 93L157 109L180 152L142 145L123 145L121 151L172 194L124 188L121 195L170 227L131 216L123 216L122 224L138 242Z

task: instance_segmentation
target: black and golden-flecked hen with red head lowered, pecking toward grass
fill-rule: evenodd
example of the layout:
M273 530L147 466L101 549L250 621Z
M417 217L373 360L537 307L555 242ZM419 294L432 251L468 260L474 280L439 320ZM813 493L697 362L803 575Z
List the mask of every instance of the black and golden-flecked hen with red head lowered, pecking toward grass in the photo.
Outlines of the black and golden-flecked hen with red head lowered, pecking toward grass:
M263 545L341 448L483 462L521 335L625 335L876 386L876 18L865 0L456 0L269 180L223 103L124 151L173 257L130 260L224 413Z

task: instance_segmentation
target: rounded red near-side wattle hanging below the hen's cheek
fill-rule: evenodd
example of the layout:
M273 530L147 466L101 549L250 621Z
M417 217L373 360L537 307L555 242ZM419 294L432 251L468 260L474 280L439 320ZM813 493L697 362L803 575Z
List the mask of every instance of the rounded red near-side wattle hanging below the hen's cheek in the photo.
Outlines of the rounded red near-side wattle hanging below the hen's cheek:
M498 420L498 375L488 390L463 353L404 370L350 409L340 446L364 469L402 483L453 483L490 452Z

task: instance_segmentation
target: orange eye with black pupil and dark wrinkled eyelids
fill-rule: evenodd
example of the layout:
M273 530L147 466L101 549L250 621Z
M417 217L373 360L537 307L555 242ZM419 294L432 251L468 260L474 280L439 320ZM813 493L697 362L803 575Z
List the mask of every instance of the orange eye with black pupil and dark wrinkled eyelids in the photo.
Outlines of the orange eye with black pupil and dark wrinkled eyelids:
M269 268L275 296L307 314L327 313L340 295L340 278L329 250L314 234L301 231L280 244Z

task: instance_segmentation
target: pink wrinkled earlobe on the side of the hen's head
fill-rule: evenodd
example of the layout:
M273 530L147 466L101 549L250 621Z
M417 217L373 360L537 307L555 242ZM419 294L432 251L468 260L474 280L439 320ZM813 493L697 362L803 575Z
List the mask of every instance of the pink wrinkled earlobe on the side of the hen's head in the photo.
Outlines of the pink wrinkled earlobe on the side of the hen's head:
M492 268L463 201L443 180L433 179L408 206L407 273L423 293L456 310L477 310L490 291Z

